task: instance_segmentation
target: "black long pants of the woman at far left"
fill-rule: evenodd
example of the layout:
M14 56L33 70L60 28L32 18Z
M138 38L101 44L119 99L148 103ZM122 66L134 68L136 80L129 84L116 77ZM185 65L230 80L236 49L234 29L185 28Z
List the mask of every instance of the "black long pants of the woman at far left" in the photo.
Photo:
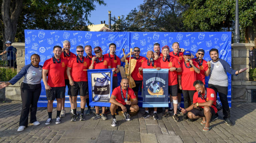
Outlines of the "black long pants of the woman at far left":
M37 102L41 94L41 83L40 84L26 84L21 83L20 85L22 109L20 115L20 126L28 126L29 110L31 111L30 121L33 123L36 120ZM31 107L30 107L31 105Z

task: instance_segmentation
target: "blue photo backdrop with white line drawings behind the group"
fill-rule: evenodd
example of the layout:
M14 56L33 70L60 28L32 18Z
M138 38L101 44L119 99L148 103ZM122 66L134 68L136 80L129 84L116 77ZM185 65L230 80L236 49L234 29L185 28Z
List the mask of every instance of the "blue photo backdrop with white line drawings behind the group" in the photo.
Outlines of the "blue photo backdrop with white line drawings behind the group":
M123 57L122 48L125 54L129 53L130 48L139 47L141 56L146 57L148 50L153 50L154 43L160 43L160 46L168 45L172 47L173 42L179 42L180 48L190 50L193 55L200 48L205 50L204 59L211 60L209 50L216 48L219 50L221 59L226 60L231 65L231 32L87 32L87 31L49 31L49 30L25 30L25 64L30 64L30 56L33 53L40 55L43 65L44 61L53 55L53 46L63 47L63 41L70 41L70 51L76 54L76 46L91 45L92 48L100 46L103 54L109 52L109 44L116 44L116 55ZM172 50L172 48L170 49ZM86 54L86 53L84 53ZM124 63L121 62L121 66ZM228 75L228 102L231 107L231 75ZM118 73L118 85L120 85L121 76ZM208 86L209 77L206 77L206 86ZM38 101L38 107L47 107L45 87L42 83L42 91ZM67 91L67 87L66 87ZM219 97L218 97L219 99ZM80 97L77 98L77 106L80 107ZM220 101L220 100L219 100ZM142 107L143 97L139 92L139 106ZM54 101L54 107L57 102ZM66 92L65 107L70 107L69 97ZM183 106L183 97L181 102Z

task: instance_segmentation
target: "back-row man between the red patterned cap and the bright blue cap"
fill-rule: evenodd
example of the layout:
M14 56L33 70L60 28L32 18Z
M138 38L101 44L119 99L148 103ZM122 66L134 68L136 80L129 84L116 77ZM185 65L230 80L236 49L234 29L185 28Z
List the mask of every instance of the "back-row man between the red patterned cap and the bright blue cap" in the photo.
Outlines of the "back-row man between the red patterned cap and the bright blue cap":
M173 48L173 51L170 52L170 56L174 57L174 58L177 58L179 63L181 63L181 61L184 59L183 58L183 53L185 52L185 49L184 48L180 48L180 44L178 42L174 42L173 45L172 45L172 48ZM194 55L191 55L191 59L194 58ZM178 73L178 79L180 77L181 73ZM178 81L177 79L177 81ZM179 113L181 113L181 109L180 109L180 106L181 106L181 94L182 94L182 90L180 90L180 88L178 88L178 111ZM172 99L171 100L171 108L169 109L169 112L173 112L173 102L172 102Z

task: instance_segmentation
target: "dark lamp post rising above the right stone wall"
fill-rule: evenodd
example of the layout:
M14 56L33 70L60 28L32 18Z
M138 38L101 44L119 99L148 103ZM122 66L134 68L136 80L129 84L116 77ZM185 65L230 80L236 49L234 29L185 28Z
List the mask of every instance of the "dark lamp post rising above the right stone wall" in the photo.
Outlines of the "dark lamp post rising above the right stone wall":
M239 33L239 10L238 10L238 0L236 0L236 9L235 9L235 35L234 35L234 43L240 42L240 33Z

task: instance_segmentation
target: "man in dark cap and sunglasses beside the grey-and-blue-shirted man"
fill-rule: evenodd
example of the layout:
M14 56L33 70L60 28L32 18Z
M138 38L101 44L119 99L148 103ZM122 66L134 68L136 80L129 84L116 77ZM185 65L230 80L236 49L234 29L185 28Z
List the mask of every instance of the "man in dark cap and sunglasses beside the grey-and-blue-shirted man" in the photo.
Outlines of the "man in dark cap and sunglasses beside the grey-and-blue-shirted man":
M211 68L208 68L208 66L211 65L211 62L207 62L203 59L205 54L205 51L203 49L198 49L196 53L196 58L192 59L192 61L195 61L198 63L200 67L200 73L197 75L197 80L201 80L205 85L205 76L209 76L211 72Z

